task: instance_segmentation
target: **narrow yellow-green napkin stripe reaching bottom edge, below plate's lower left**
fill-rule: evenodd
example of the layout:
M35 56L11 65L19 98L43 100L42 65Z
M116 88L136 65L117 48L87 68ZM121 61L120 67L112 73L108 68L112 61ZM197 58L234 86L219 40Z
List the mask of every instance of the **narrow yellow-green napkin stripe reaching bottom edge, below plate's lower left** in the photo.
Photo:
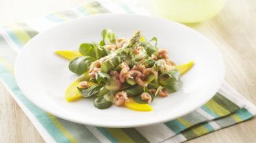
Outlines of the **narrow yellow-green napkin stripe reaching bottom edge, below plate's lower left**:
M72 134L70 134L65 127L61 124L61 122L58 121L58 119L53 116L52 114L47 113L47 116L52 120L52 122L54 123L55 127L61 131L61 133L63 133L63 135L65 135L65 137L67 138L67 140L69 140L71 143L78 143L76 138L74 138L74 136Z

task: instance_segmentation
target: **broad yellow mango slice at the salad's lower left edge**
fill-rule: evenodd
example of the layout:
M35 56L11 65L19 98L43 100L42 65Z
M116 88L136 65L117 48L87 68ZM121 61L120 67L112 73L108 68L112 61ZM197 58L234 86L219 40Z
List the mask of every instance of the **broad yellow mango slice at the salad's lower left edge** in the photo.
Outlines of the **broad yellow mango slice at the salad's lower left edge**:
M70 84L70 86L67 88L66 90L66 93L65 93L65 99L69 102L72 102L72 101L76 101L78 99L81 99L83 96L82 96L82 93L77 89L79 83L81 81L74 81ZM93 86L94 83L92 82L88 82L88 86Z

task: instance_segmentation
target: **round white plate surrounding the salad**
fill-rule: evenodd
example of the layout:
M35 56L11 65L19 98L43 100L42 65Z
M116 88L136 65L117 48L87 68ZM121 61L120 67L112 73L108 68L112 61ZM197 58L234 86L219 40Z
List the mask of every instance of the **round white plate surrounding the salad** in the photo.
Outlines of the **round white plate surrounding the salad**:
M157 98L151 104L153 112L114 105L100 110L90 99L67 103L65 89L76 75L68 70L69 62L54 51L77 50L83 42L98 42L105 28L127 38L140 29L147 39L156 36L159 47L167 49L177 64L193 60L195 65L182 77L180 91ZM224 79L224 64L212 42L189 27L151 16L102 14L63 23L37 35L17 58L15 76L28 99L55 116L98 127L140 127L184 116L209 101Z

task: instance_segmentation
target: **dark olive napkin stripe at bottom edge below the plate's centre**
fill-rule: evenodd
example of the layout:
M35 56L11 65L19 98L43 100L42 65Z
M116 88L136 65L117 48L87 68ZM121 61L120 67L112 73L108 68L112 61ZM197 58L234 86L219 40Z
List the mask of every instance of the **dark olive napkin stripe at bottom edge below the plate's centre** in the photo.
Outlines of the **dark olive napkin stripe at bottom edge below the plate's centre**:
M129 138L129 136L121 129L107 128L107 131L109 131L109 133L111 133L111 135L113 135L120 143L135 143L134 140L131 140L131 138Z

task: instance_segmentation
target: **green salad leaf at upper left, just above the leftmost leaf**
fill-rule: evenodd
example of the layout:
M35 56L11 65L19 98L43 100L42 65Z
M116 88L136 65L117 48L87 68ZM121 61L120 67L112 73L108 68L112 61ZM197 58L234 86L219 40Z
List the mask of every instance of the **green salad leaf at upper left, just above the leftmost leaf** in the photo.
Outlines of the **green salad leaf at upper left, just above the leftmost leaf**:
M94 57L96 60L108 55L106 49L103 49L103 47L100 47L100 45L95 42L81 44L79 47L79 53L84 56Z

